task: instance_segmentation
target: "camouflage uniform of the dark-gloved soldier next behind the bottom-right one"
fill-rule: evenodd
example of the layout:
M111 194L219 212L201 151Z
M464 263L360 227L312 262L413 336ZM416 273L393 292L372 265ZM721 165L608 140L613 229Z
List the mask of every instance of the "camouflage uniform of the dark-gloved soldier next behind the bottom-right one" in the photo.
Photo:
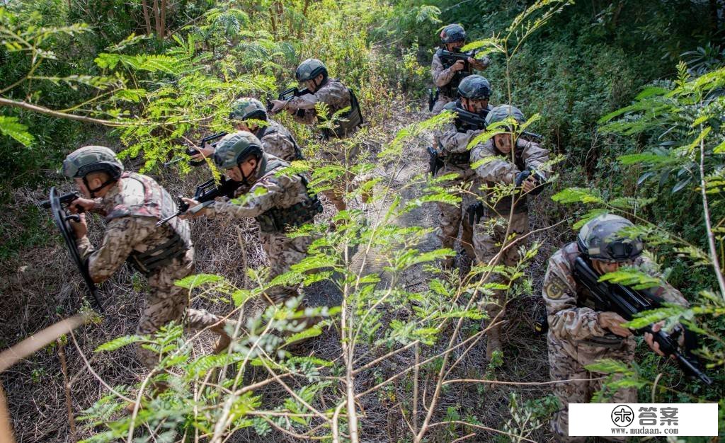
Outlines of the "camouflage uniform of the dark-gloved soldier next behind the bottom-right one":
M494 160L491 160L493 157ZM527 196L517 193L516 196L505 196L497 202L494 201L494 186L497 184L510 185L515 182L516 175L529 167L539 169L544 162L549 160L549 151L542 149L539 144L518 138L514 149L514 161L511 161L510 154L505 156L494 147L494 140L490 138L483 144L475 146L471 150L471 163L489 160L476 168L481 185L490 191L484 191L485 204L484 215L478 223L473 225L473 248L476 253L476 260L481 264L491 262L500 252L508 239L518 238L529 232L529 212L526 204ZM513 214L511 205L513 204ZM508 228L508 229L507 229ZM497 263L513 266L518 262L518 244L505 249ZM489 281L502 281L499 274L492 274ZM502 311L505 307L503 291L496 291L495 302L486 306L489 318L502 319ZM488 356L495 349L500 349L500 326L493 326L489 329Z

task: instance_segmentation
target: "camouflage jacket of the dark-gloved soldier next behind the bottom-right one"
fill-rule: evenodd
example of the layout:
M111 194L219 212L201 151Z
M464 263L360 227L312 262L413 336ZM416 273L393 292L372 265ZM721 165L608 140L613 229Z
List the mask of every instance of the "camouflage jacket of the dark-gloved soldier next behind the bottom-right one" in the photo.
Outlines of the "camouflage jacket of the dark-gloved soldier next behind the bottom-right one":
M497 197L494 196L496 194L494 186L496 184L515 183L516 175L529 167L534 167L539 173L545 175L541 168L549 160L549 151L543 149L533 141L518 138L512 162L510 154L504 155L499 152L494 147L493 138L489 138L485 143L478 144L471 149L471 164L475 164L481 160L486 161L479 165L479 167L476 167L476 175L483 182L481 184L488 189L486 191L486 199L489 203L489 208L492 208L500 215L508 215L511 204L514 203L515 212L526 212L528 210L526 195L517 193L513 196L503 196L495 201Z

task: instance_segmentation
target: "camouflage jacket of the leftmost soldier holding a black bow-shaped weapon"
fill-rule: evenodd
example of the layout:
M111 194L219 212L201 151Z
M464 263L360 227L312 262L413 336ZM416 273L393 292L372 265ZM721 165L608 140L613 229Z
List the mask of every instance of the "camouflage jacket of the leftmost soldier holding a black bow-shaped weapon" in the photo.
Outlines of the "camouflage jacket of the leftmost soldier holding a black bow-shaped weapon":
M171 252L170 257L188 261L191 234L186 220L158 226L160 218L176 212L171 196L146 175L125 173L102 199L96 199L94 212L104 215L107 225L101 247L95 249L87 236L76 241L80 256L87 260L88 273L96 281L107 280L133 257ZM154 251L155 250L155 251ZM144 262L130 260L138 270L149 274ZM162 264L164 265L164 264Z

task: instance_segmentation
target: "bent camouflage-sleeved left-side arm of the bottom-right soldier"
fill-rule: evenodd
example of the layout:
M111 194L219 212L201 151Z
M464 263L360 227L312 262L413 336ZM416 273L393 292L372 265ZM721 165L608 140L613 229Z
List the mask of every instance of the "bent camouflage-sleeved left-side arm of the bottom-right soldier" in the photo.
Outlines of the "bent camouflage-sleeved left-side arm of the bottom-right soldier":
M605 335L597 311L576 306L576 283L559 253L549 260L542 295L549 329L556 338L578 341Z

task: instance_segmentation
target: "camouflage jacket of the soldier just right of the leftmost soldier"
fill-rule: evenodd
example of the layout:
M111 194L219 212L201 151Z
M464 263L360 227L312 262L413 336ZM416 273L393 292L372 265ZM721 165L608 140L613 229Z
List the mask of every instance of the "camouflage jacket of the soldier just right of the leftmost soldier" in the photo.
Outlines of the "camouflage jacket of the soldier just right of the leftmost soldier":
M234 196L239 203L230 200L218 200L207 207L207 217L257 218L262 231L281 231L285 226L276 229L265 228L268 218L295 217L307 223L318 212L312 209L317 196L307 192L307 181L302 175L279 173L288 163L270 154L264 154L252 186L240 186ZM294 212L294 213L293 213ZM288 220L295 224L294 221Z

